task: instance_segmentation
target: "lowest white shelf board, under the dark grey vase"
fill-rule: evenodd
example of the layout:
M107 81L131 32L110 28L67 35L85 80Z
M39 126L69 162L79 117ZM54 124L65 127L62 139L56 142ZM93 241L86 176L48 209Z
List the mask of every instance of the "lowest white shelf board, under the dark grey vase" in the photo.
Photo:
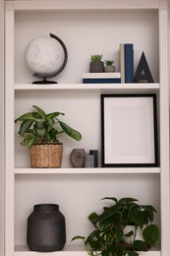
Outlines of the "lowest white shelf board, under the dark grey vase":
M27 245L17 245L15 249L16 249L14 254L15 256L49 255L49 253L29 251ZM85 251L85 248L83 245L66 245L63 250L50 253L50 256L59 256L59 255L87 256L88 254ZM140 256L160 256L160 251L140 252Z

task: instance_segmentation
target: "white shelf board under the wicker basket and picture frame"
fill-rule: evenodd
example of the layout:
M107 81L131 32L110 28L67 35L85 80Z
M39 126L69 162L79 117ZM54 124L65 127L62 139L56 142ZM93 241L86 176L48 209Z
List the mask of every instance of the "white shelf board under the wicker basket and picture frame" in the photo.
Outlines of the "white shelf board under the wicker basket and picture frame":
M139 168L15 168L15 174L133 174L160 173L159 167Z

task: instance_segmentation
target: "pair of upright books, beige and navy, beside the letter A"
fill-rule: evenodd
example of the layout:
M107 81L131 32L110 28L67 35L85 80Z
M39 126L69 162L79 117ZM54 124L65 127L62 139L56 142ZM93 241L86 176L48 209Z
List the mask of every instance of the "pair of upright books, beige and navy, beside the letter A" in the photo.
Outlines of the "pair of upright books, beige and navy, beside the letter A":
M121 83L134 83L134 44L120 44Z

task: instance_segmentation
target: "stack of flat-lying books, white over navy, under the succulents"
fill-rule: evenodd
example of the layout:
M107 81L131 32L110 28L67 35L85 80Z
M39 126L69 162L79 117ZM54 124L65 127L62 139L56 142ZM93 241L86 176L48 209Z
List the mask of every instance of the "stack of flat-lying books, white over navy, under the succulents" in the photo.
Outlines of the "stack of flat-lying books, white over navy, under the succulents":
M84 84L116 84L121 83L121 73L84 73Z

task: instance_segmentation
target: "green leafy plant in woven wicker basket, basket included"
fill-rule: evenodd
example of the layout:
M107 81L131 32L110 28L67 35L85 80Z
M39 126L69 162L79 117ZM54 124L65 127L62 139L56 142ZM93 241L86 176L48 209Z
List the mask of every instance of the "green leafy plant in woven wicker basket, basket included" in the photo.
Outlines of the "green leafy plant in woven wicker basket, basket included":
M45 113L39 106L15 120L20 122L19 134L22 146L30 148L31 167L61 167L63 144L61 134L80 141L82 135L58 117L62 112Z

